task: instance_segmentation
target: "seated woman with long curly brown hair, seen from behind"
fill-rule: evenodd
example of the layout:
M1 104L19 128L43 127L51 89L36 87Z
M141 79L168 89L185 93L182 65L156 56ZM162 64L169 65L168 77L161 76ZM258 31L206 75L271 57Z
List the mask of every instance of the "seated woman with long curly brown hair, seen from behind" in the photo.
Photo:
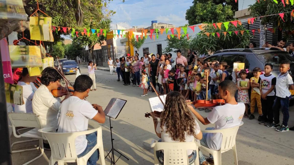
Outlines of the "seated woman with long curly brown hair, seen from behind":
M166 95L160 121L151 113L155 133L161 138L158 142L193 142L194 137L202 139L200 127L188 106L191 105L186 104L186 100L179 92L172 91ZM196 150L188 150L189 164L195 161L196 154ZM163 151L156 151L156 156L163 164Z

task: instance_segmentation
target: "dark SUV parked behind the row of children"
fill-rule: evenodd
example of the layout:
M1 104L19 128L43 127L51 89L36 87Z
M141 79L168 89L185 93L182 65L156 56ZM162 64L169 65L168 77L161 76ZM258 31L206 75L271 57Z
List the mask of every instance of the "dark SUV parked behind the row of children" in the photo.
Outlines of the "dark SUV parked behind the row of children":
M294 58L287 52L280 50L268 50L267 48L252 48L252 49L227 49L216 51L213 55L204 59L204 61L217 60L219 62L227 62L229 73L233 71L233 63L235 61L241 61L245 63L245 68L253 70L255 67L259 67L262 71L266 63L273 65L273 75L278 76L279 64L283 60L290 62L289 73L294 80ZM294 99L294 92L291 91L292 99Z

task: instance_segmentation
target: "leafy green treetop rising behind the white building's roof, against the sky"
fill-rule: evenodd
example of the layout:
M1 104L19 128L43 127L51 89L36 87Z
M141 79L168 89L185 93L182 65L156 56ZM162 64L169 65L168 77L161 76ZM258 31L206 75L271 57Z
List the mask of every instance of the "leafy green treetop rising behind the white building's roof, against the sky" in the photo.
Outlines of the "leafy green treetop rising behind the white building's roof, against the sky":
M193 6L186 11L189 25L216 23L232 20L238 3L233 0L194 0Z

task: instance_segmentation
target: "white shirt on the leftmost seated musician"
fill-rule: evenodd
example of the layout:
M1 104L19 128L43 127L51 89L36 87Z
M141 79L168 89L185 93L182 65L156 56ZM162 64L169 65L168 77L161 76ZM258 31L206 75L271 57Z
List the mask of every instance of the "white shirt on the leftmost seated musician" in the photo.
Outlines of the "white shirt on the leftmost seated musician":
M23 89L23 105L14 105L14 112L16 113L33 113L32 99L34 96L34 90L31 84L26 84L25 82L19 81L17 85L21 85Z

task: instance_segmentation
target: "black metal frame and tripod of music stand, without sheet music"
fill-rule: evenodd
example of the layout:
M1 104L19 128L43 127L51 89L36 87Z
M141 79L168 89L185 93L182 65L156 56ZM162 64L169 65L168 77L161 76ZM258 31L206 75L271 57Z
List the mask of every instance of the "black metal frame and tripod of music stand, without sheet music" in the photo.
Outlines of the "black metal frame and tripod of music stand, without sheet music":
M105 156L105 158L111 153L111 156L109 157L109 158L111 159L111 161L110 161L111 165L112 165L112 163L115 164L121 156L123 156L123 157L125 157L126 159L128 159L128 158L127 158L126 156L124 156L122 153L120 153L120 152L117 151L115 148L113 148L113 140L114 140L114 139L112 138L112 128L113 128L113 127L111 127L111 119L110 119L110 118L112 117L113 119L116 119L116 118L118 117L118 114L121 112L121 110L123 109L124 105L126 104L126 102L125 102L121 107L119 107L120 110L119 110L118 112L116 112L117 115L115 115L115 116L113 116L113 114L110 115L109 112L110 112L111 110L113 110L112 107L113 107L113 105L115 104L115 100L116 100L116 99L117 99L117 98L112 98L111 101L108 103L106 109L104 110L104 112L106 112L106 116L109 117L110 135L111 135L111 150L108 152L108 154ZM122 99L119 99L119 100L122 100ZM123 100L123 101L126 101L126 100ZM117 110L117 109L116 109L116 110ZM110 113L111 113L111 112L110 112ZM108 115L108 114L109 114L109 115ZM114 159L114 151L116 151L118 154L120 154L120 156L116 159L116 161L115 161L115 159ZM128 159L128 160L129 160L129 159Z

